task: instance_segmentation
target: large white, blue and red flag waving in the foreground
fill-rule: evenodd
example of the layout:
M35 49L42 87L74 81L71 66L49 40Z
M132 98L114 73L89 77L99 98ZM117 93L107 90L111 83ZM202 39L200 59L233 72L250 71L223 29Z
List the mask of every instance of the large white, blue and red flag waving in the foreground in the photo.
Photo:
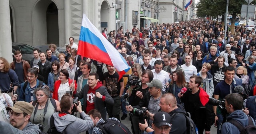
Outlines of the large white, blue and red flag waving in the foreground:
M119 79L130 69L122 55L95 28L85 14L77 54L114 66L119 73Z

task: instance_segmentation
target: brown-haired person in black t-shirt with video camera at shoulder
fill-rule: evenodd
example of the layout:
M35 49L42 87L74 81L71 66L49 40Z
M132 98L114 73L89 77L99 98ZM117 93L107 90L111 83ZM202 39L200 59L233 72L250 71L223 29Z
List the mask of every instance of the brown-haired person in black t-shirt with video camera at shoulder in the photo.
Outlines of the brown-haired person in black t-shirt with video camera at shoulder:
M138 67L139 68L139 67ZM138 70L138 68L132 68L132 71ZM137 76L138 73L134 73L135 76ZM126 91L126 93L129 93L129 103L132 106L137 106L139 102L142 100L142 98L146 95L148 92L148 85L146 83L149 83L153 80L153 73L151 70L146 69L141 74L141 85L130 85L129 89ZM132 130L134 134L138 134L139 128L138 123L140 122L140 116L135 114L130 114L130 120L132 123Z

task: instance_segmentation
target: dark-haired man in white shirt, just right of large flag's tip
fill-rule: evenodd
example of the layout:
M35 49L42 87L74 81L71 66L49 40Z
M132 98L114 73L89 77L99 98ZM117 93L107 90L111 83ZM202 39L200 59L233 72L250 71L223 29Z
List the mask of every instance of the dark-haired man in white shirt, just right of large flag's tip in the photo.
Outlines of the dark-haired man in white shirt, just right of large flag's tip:
M158 79L162 82L163 87L165 86L165 84L168 82L169 78L169 74L162 70L163 69L163 63L161 60L157 60L155 63L155 69L152 70L154 78L153 79ZM162 89L163 91L165 91L165 89Z

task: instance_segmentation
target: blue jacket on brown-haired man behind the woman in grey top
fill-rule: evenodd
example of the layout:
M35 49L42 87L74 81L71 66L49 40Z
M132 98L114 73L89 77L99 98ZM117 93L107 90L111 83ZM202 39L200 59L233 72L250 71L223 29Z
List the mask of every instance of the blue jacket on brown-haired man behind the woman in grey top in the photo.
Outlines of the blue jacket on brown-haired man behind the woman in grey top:
M31 101L30 83L28 83L28 85L25 89L25 92L23 91L24 83L22 83L20 86L20 93L18 94L18 97L19 97L19 101L26 101L29 103ZM36 79L36 87L38 87L38 85L39 85L39 80ZM45 84L43 83L43 85L45 85ZM34 100L36 100L36 96L35 95L33 95L33 96L34 96Z

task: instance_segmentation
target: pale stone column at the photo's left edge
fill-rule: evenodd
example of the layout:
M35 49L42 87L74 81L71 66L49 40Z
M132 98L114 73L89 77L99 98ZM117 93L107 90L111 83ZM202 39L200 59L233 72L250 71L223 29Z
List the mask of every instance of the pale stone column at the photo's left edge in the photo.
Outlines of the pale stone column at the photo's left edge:
M12 32L10 21L9 0L0 0L0 57L4 57L9 63L12 62Z

